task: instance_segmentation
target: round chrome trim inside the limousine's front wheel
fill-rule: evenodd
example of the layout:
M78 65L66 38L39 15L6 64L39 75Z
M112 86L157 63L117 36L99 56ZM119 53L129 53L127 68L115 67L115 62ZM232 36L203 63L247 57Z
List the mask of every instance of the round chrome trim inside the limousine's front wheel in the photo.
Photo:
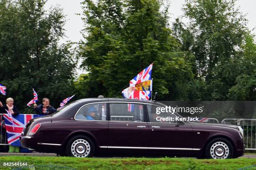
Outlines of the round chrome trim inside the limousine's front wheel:
M229 155L228 145L224 142L215 142L210 148L210 155L213 159L226 159Z

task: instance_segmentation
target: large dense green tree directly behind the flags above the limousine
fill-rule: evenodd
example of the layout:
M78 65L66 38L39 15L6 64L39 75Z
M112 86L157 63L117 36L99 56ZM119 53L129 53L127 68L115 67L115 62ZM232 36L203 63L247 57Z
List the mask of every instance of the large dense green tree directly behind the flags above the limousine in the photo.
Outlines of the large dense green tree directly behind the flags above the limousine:
M119 90L154 62L153 87L161 99L186 97L180 85L193 77L189 56L171 35L167 10L159 10L161 1L84 0L83 5L86 41L80 54L82 66L89 71L84 82L89 96L120 97Z

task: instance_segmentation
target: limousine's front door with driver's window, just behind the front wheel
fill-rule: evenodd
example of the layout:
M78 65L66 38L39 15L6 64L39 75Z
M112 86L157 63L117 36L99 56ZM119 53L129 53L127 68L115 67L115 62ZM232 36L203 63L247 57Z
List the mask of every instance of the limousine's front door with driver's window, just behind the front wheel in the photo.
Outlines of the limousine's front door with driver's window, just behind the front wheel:
M157 107L160 106L146 105L150 133L149 149L192 150L191 125L175 121L175 115L170 112L156 114Z

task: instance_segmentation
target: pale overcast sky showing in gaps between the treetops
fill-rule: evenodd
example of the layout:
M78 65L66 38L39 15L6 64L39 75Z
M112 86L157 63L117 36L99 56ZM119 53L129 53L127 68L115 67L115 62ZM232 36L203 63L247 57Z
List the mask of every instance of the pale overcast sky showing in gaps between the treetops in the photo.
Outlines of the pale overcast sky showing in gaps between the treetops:
M60 43L65 43L68 40L72 42L79 42L79 40L83 38L82 34L80 33L80 31L83 29L83 22L81 16L75 15L76 13L82 14L82 8L80 4L81 2L82 0L48 0L46 2L46 9L49 9L51 6L59 5L61 8L63 8L64 14L67 15L67 22L64 27L67 37L64 37L62 40L60 40ZM181 9L185 0L170 0L170 2L170 21L173 22L177 17L183 14L183 11ZM243 14L247 14L246 18L248 19L248 28L250 30L256 28L256 0L238 0L236 7L239 6L240 11ZM253 33L256 34L256 30L253 30ZM77 73L78 75L80 75L86 72L77 68Z

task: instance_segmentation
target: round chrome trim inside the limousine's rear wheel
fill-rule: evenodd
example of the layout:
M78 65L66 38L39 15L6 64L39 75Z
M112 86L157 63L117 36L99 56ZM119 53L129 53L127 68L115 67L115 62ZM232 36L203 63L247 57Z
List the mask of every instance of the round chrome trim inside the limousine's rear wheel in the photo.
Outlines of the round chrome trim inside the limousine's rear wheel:
M90 144L84 139L77 139L71 145L71 153L74 157L87 157L90 154L90 150Z

